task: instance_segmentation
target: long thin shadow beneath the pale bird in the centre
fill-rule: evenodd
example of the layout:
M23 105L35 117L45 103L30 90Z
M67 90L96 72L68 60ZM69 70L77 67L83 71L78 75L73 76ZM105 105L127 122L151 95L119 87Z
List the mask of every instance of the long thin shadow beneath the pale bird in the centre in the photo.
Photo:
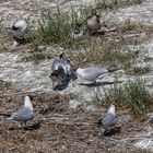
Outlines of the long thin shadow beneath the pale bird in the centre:
M96 86L104 86L104 85L111 85L115 83L122 83L122 81L114 81L114 82L96 82L96 83L80 83L80 85L84 85L87 87L96 87Z

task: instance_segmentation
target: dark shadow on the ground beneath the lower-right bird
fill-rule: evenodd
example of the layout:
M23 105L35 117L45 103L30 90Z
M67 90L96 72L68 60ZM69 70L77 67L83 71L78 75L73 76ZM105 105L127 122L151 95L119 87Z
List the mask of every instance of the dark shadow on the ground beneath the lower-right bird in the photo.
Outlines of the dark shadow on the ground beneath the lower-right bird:
M116 133L119 133L120 130L121 130L120 127L114 127L114 128L111 128L111 129L109 129L109 130L105 130L105 131L102 133L102 137L111 137L111 136L114 136L114 134L116 134Z

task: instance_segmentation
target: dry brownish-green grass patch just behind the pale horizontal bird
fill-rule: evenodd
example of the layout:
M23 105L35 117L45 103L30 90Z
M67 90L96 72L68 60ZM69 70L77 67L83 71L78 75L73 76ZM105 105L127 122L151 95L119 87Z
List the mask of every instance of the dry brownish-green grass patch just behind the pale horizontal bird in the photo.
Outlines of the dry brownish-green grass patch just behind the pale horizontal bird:
M108 69L129 69L137 56L126 40L114 38L109 42L91 42L90 46L70 51L70 58L78 67L97 64Z

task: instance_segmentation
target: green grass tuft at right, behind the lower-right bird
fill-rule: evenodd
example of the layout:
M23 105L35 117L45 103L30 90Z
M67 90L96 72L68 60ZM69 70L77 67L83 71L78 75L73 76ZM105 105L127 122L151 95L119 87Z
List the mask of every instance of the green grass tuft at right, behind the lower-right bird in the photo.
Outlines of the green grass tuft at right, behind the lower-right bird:
M137 79L128 81L122 86L115 84L107 92L105 91L105 104L116 104L118 107L127 107L131 109L136 118L145 116L151 111L153 96L145 86L145 81Z

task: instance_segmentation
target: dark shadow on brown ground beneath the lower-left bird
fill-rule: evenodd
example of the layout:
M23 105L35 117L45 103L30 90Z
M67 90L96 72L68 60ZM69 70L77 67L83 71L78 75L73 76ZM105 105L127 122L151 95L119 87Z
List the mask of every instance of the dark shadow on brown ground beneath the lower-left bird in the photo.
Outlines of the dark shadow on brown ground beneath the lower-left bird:
M13 131L13 130L25 130L25 131L33 131L33 130L37 130L40 128L40 122L35 122L31 126L26 126L26 127L11 127L9 128L9 130Z

